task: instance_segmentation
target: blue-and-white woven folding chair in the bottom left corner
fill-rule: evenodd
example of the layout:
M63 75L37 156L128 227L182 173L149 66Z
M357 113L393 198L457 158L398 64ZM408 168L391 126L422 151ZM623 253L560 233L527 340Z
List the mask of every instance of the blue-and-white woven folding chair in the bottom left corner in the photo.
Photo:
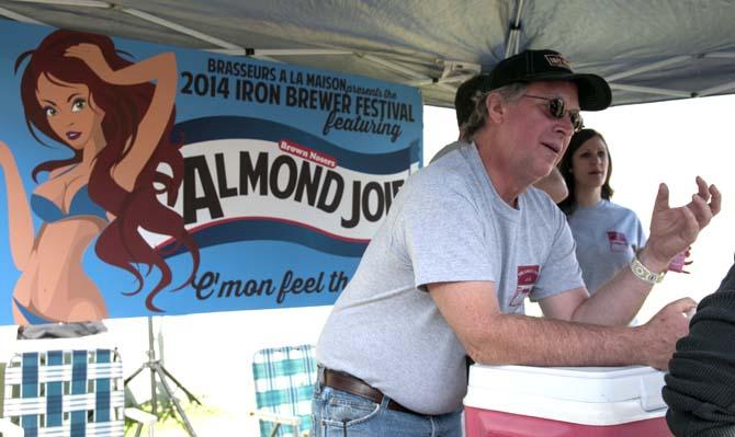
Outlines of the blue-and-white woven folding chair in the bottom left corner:
M2 417L21 427L25 437L122 437L125 416L133 416L140 422L136 435L145 422L152 436L156 416L136 409L125 412L117 352L79 348L84 338L75 341L74 348L55 348L59 344L54 342L65 340L22 341L39 347L8 361Z

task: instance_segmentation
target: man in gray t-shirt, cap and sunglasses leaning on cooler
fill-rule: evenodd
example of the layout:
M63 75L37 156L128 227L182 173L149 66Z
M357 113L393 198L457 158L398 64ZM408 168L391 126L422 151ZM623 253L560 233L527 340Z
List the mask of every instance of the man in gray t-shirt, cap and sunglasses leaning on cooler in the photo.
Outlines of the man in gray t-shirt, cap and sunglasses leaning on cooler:
M691 299L625 326L670 258L720 210L700 181L685 207L662 185L648 243L589 297L566 219L531 185L564 153L578 110L608 84L552 50L501 61L466 128L470 142L411 176L319 342L316 436L460 436L465 355L483 364L666 368ZM706 202L711 198L711 203ZM523 314L525 297L545 318Z

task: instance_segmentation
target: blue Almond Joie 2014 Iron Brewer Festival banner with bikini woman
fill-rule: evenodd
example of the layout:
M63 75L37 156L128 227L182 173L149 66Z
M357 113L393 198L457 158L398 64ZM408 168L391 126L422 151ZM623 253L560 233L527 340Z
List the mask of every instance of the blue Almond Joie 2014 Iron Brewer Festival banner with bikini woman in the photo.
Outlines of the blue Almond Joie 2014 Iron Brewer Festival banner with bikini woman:
M421 162L414 88L0 32L0 324L331 304Z

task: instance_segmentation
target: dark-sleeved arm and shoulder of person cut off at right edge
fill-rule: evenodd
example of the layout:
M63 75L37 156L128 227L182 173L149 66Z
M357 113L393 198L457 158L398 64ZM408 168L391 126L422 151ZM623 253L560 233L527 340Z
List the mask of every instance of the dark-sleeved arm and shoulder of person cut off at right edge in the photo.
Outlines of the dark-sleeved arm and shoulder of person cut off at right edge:
M735 436L735 264L677 343L664 401L676 436Z

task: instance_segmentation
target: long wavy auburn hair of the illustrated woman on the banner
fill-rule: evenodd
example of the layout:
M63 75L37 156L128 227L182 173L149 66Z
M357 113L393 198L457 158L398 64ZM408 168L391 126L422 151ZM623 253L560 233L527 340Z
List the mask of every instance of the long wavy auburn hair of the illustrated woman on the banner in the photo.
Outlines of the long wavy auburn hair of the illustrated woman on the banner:
M166 194L168 205L174 205L183 181L183 157L179 150L181 145L172 143L170 139L176 110L171 111L156 150L140 170L133 189L131 192L124 189L113 180L111 169L125 158L129 151L126 146L135 142L138 125L150 105L156 85L150 82L113 85L102 81L84 61L65 56L67 48L79 44L93 44L100 47L104 59L113 70L133 64L120 56L108 36L65 30L50 33L36 49L19 56L15 71L26 58L29 59L21 78L21 100L31 135L43 143L36 136L37 129L48 138L68 147L74 153L69 159L41 163L33 169L33 179L35 180L39 172L50 172L81 162L82 158L81 150L69 147L48 124L45 111L35 95L38 78L45 74L49 80L53 77L66 83L86 84L90 95L93 96L94 105L104 112L102 133L106 141L94 158L88 183L89 195L95 204L115 216L100 233L94 250L105 263L124 268L136 277L138 287L129 295L139 292L144 286L144 277L138 265L147 266L148 272L154 265L158 267L160 279L146 297L146 307L150 311L161 311L154 304L154 298L171 283L171 268L161 253L143 239L138 228L168 235L176 243L186 246L191 253L193 258L191 275L178 288L190 284L199 268L199 248L184 229L183 218L157 199L159 194ZM160 172L158 170L160 164L163 164L163 168L168 165L170 174Z

